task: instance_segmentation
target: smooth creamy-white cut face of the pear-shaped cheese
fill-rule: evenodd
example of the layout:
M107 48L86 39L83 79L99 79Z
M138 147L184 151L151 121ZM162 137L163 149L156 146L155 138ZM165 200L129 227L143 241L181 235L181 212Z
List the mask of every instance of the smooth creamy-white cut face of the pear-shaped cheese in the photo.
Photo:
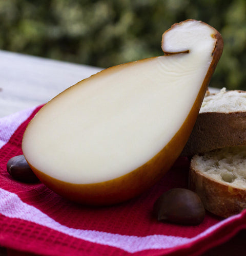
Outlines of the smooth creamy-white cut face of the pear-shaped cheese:
M108 68L47 103L24 134L28 162L61 181L91 184L154 157L186 120L207 75L215 45L214 30L204 29L203 47Z

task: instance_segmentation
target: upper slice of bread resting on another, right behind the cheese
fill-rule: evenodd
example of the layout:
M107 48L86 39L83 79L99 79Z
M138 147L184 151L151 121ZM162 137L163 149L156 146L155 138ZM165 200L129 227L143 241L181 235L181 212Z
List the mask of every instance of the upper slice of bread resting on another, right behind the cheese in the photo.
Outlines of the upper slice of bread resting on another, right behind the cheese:
M246 144L246 92L207 92L181 156Z

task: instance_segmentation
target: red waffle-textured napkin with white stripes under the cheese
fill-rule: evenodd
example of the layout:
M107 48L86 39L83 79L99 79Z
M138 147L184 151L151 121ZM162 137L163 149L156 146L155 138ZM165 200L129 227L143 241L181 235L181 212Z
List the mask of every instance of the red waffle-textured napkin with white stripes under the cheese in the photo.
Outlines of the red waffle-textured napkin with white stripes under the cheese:
M246 228L246 212L227 219L206 213L198 226L161 223L155 200L172 188L187 188L189 161L173 168L141 196L110 207L78 205L41 182L25 184L7 172L22 154L22 136L40 107L0 119L0 246L40 255L199 255Z

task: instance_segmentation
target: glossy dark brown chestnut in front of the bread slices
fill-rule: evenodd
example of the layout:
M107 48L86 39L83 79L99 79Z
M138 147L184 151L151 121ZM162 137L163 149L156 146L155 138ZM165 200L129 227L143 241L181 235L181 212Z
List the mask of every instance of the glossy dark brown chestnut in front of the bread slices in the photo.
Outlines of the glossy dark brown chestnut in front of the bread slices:
M198 225L205 217L205 209L195 192L176 188L163 193L156 200L154 214L158 221Z

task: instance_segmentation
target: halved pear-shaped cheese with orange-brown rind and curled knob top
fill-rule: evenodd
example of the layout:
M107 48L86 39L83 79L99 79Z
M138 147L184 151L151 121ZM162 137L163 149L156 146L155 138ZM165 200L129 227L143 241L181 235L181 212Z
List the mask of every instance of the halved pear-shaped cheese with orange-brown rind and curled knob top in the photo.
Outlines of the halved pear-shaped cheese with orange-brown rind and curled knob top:
M152 186L192 131L222 52L220 34L188 20L163 34L164 56L114 66L48 102L23 153L49 188L75 202L113 204Z

